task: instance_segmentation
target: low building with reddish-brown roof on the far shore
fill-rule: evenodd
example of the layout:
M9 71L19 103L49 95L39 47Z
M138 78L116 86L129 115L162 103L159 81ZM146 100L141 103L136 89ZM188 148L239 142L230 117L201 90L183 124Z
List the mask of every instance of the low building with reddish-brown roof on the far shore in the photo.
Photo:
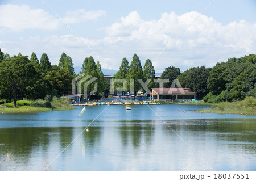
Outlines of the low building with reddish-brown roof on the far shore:
M157 100L190 101L196 99L196 92L189 88L152 88L152 97Z

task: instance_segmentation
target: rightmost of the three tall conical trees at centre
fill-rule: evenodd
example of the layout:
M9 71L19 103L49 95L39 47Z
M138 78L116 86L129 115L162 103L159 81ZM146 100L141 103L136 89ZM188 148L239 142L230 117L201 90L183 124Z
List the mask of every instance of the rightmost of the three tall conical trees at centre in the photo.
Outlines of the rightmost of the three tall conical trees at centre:
M155 83L154 83L155 70L151 60L149 59L146 60L145 65L143 67L143 78L144 78L144 81L146 81L147 79L150 79L150 82L148 83L147 87L151 91L151 89L155 87Z

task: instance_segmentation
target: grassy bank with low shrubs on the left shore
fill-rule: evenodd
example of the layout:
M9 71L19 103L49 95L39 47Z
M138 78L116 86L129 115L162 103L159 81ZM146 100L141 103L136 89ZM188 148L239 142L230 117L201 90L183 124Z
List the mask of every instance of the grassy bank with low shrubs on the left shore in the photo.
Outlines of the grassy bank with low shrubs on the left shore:
M68 104L66 100L60 98L53 98L51 102L46 100L19 100L16 103L16 108L13 108L13 103L2 104L0 113L64 111L73 110L74 108L75 107Z

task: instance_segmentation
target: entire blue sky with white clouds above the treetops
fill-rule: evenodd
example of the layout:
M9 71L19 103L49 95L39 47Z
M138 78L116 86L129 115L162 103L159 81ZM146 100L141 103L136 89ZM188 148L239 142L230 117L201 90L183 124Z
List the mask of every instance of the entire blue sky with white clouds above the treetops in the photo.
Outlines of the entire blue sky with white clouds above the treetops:
M1 1L2 52L58 64L63 52L74 66L93 56L118 70L136 53L156 72L212 67L256 53L256 1Z

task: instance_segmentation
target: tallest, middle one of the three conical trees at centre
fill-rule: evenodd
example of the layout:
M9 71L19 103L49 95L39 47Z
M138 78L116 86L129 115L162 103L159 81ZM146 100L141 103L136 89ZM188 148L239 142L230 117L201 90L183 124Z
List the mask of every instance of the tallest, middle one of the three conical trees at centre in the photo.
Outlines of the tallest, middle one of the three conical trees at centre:
M141 66L141 61L139 60L139 57L137 56L137 54L134 54L133 56L133 61L131 61L130 69L127 74L127 79L128 79L127 82L129 87L131 85L130 79L134 80L134 99L135 99L136 93L142 88L141 83L139 83L138 79L143 79L143 70Z

